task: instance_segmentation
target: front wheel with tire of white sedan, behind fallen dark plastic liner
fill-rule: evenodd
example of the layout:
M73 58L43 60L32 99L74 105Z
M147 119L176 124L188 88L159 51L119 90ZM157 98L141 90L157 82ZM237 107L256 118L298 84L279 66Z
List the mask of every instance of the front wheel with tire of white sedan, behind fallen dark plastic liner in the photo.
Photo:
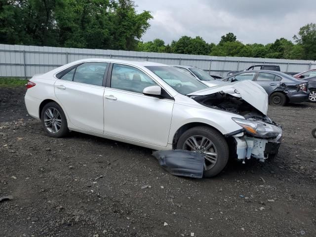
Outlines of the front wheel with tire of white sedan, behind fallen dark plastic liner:
M210 146L210 148L208 148L207 150L197 151L196 149L192 148L192 146L190 147L189 145L187 145L190 143L190 141L192 141L193 138L196 139L197 143L203 144L203 141L205 142L205 139L202 140L203 139L202 137L208 139L211 143L213 143L213 145ZM187 141L188 143L186 143ZM205 143L205 145L207 144ZM207 156L205 156L204 171L203 171L203 177L206 177L206 178L213 177L217 175L218 173L220 173L226 166L228 162L228 158L229 158L229 148L223 135L220 134L215 129L211 127L207 127L207 126L197 126L185 131L180 136L176 148L182 149L182 150L189 150L189 151L195 150L203 154L207 152L208 154ZM215 156L210 155L210 154L217 154L216 161L215 161ZM210 162L210 160L212 162Z

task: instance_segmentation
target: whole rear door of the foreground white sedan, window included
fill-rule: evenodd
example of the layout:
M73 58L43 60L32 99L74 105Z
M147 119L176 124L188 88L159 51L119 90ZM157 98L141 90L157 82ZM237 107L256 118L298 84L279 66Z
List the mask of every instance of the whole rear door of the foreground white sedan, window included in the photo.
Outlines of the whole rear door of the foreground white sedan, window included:
M103 79L108 66L86 62L63 76L56 75L55 95L75 127L103 133Z

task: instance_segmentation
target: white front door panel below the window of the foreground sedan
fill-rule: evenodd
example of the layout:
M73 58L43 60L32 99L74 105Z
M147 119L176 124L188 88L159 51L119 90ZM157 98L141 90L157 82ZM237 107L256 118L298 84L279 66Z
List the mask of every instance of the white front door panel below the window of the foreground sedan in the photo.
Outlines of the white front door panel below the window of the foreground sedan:
M167 146L173 100L113 88L105 89L104 100L105 134Z

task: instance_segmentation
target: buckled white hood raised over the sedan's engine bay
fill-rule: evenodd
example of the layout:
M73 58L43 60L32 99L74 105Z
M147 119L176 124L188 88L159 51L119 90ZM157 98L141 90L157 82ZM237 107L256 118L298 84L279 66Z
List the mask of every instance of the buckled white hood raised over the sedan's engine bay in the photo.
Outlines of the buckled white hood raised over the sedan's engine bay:
M235 97L241 97L264 115L268 114L268 94L260 85L251 80L225 83L223 85L213 86L209 89L195 91L188 95L210 95L220 91Z

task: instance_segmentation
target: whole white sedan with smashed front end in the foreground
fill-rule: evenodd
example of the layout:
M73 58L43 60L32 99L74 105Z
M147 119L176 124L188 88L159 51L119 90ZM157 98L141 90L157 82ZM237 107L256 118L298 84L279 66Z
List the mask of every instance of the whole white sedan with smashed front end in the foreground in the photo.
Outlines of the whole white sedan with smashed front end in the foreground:
M153 62L85 59L27 84L28 113L49 136L69 130L155 150L204 154L204 176L229 155L244 161L277 153L282 130L267 117L268 96L252 81L212 88Z

